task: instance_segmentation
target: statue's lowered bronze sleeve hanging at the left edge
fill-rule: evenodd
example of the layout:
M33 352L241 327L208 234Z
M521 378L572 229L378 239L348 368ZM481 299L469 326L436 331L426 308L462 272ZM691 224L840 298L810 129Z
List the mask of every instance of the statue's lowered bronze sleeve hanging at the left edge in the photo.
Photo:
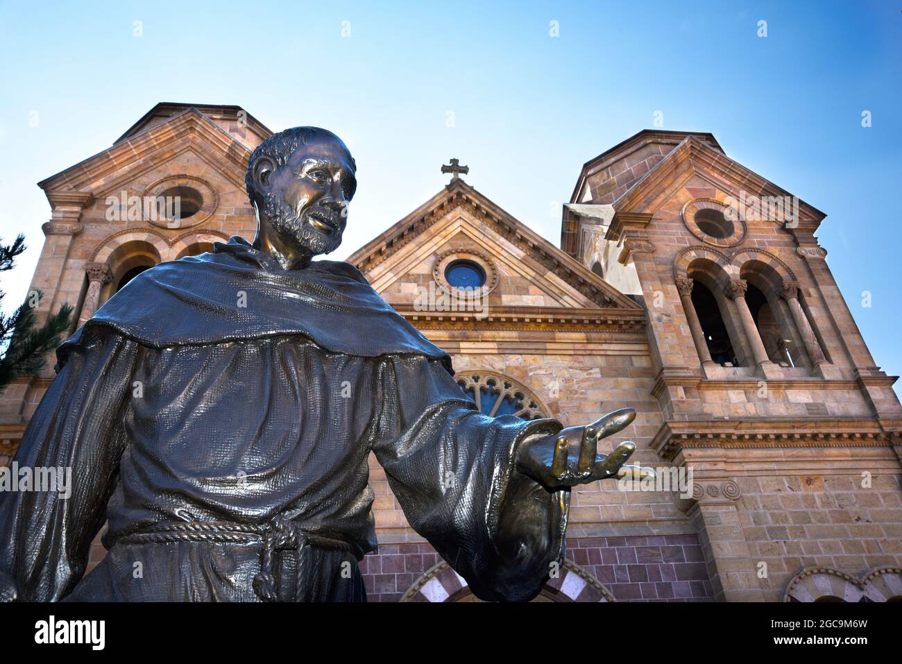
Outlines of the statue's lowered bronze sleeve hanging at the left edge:
M112 333L89 333L60 355L59 373L7 470L52 467L69 481L54 487L64 491L0 493L0 595L6 599L59 600L84 574L124 450L121 410L133 389L140 390L131 384L140 348Z

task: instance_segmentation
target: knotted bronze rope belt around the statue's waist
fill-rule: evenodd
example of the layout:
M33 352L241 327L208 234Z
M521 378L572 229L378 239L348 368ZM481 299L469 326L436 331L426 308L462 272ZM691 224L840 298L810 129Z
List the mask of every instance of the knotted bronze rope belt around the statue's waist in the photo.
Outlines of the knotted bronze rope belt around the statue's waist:
M346 551L354 547L341 539L314 535L299 528L281 514L260 525L230 521L178 521L157 523L150 529L117 539L118 544L167 544L170 542L214 542L249 544L262 542L260 573L253 577L253 591L264 602L279 601L273 566L277 553L285 550L303 553L310 546Z

